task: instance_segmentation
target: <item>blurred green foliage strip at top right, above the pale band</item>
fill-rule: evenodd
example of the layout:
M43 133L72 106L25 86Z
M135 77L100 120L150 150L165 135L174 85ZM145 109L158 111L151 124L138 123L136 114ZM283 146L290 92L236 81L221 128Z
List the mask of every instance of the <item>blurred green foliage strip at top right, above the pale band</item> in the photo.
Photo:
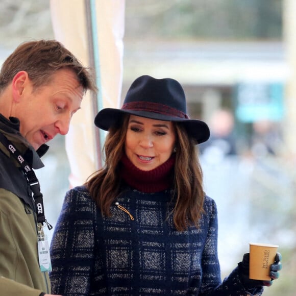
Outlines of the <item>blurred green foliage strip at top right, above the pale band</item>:
M128 0L126 9L126 33L132 38L282 37L281 0Z

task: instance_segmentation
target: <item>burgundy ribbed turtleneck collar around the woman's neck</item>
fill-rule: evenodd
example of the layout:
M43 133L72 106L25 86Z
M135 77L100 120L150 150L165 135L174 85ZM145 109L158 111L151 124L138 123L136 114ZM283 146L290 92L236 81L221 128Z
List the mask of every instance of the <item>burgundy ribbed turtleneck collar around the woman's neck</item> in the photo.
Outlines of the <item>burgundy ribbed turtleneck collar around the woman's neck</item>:
M171 187L176 155L152 170L137 168L126 156L121 158L121 178L131 187L142 192L159 192Z

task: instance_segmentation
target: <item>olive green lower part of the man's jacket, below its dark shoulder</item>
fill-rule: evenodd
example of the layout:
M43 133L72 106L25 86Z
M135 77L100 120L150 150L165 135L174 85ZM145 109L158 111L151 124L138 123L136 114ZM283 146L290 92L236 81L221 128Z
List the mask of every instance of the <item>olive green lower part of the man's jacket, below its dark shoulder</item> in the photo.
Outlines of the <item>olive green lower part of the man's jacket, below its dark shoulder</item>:
M48 274L42 273L39 267L34 215L16 195L0 188L0 294L3 296L38 296L50 292Z

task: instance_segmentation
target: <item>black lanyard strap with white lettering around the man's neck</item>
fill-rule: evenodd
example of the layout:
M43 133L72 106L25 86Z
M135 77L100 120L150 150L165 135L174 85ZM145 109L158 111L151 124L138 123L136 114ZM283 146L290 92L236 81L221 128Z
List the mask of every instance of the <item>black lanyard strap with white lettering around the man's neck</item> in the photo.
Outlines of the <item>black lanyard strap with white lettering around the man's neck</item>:
M22 157L22 154L15 147L15 145L13 145L1 132L0 132L0 141L6 147L6 149L10 152L10 155L12 155L12 157L20 165L24 173L24 176L26 176L27 178L27 182L30 185L30 188L33 192L33 199L36 206L37 222L41 223L42 225L45 223L48 229L51 230L53 227L45 219L43 195L40 192L40 184L32 166Z

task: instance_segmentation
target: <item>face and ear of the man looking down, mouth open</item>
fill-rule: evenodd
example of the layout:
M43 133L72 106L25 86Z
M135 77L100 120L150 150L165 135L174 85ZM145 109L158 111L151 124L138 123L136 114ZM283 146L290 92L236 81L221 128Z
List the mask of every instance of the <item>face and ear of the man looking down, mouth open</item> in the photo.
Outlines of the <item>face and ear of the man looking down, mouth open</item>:
M35 150L57 134L67 134L83 93L75 73L68 69L58 70L50 83L35 91L29 79L13 112L20 120L20 133Z

